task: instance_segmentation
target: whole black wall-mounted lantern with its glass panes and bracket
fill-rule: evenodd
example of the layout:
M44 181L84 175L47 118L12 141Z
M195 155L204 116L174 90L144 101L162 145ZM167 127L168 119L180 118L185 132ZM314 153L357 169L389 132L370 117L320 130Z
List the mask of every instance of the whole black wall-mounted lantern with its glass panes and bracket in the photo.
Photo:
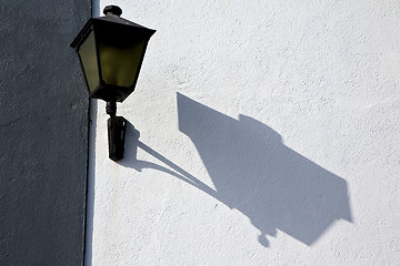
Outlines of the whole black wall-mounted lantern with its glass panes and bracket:
M117 102L134 91L150 37L156 32L120 18L117 6L104 8L106 17L91 18L70 44L76 49L90 98L107 102L109 157L121 160L126 119L117 116Z

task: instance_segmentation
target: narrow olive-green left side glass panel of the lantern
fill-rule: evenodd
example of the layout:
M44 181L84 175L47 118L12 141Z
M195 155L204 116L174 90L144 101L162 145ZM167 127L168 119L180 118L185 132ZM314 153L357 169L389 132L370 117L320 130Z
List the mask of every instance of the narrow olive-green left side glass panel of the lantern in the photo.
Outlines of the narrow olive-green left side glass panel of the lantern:
M99 84L98 60L96 54L93 31L89 33L88 38L79 47L79 57L83 65L84 76L89 85L89 91L93 92Z

